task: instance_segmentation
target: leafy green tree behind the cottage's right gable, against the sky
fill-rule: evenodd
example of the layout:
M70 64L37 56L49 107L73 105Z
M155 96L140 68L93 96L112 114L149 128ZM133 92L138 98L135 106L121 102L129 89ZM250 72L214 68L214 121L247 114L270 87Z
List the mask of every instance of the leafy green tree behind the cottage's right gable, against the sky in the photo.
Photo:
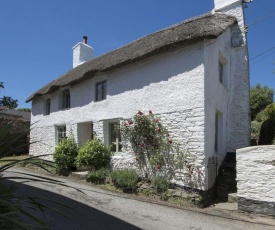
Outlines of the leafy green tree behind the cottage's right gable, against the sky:
M257 84L250 89L251 120L254 120L259 112L273 103L274 90L268 86Z

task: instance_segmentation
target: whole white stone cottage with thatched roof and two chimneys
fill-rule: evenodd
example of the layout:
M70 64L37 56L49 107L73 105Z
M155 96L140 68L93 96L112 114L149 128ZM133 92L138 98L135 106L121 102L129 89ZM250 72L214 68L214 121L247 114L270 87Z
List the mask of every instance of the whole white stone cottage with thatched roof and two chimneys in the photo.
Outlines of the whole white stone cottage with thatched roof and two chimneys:
M114 125L138 111L159 114L173 137L202 165L207 191L228 152L249 145L249 74L242 0L214 0L205 15L93 58L87 38L73 47L73 69L32 94L30 154L54 151L73 132L116 145L114 167L132 167ZM36 142L38 141L38 142ZM183 182L178 184L185 185Z

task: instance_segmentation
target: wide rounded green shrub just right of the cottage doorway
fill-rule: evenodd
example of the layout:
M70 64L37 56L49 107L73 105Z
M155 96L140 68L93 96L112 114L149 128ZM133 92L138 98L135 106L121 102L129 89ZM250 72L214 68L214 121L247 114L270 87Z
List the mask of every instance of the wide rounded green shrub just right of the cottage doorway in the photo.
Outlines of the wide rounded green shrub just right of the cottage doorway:
M76 164L99 169L108 166L110 159L110 149L101 140L94 138L79 150Z

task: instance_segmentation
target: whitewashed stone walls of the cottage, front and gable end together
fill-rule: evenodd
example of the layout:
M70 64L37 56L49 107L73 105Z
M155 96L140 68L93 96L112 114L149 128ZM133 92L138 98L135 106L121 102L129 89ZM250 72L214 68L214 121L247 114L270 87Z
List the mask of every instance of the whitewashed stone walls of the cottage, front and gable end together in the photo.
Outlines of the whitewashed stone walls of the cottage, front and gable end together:
M241 1L237 3L231 5L233 11L230 12L234 12L236 7L242 9ZM50 88L48 94L34 94L31 100L32 123L35 125L31 139L38 142L31 146L30 153L52 153L60 126L66 127L67 135L72 132L80 145L92 135L109 145L110 124L129 119L139 110L145 113L152 110L161 117L171 138L180 144L182 150L197 158L202 175L200 183L192 186L208 190L215 181L215 175L207 170L208 158L216 156L220 164L227 151L249 144L247 50L243 39L240 44L232 44L237 31L239 26L233 23L216 38L211 36L177 45L177 48L142 60L99 71L93 77L58 90ZM95 62L100 58L104 59L104 55ZM82 66L79 69L83 76L88 76L85 72L88 65ZM96 101L97 84L103 81L107 82L106 99ZM60 109L62 92L66 89L70 91L70 108ZM45 115L48 98L51 99L51 113ZM241 128L239 121L242 122ZM136 167L131 150L124 149L115 154L112 166ZM190 186L190 181L181 176L175 180L178 185Z

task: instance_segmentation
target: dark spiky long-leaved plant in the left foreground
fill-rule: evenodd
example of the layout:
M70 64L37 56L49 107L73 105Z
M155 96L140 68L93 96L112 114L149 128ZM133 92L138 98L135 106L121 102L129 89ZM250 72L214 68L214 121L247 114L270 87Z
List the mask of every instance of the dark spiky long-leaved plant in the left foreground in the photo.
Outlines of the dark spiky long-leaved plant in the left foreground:
M16 142L18 136L20 137L20 135L25 135L28 132L27 129L25 133L15 133L14 136L10 136L10 138L7 139L7 135L10 133L10 130L16 121L17 120L13 120L8 123L2 123L0 126L0 229L34 229L34 224L39 225L39 227L36 226L36 228L46 228L47 223L38 216L33 215L31 210L35 210L43 215L45 208L51 208L50 202L53 201L50 201L47 198L18 194L14 188L10 188L9 185L4 183L6 182L6 179L12 179L17 180L20 183L36 181L38 183L63 185L62 182L57 180L47 179L45 177L35 176L28 173L17 173L10 177L6 175L6 170L22 163L35 165L46 171L48 170L45 166L51 166L50 164L47 164L46 161L42 166L38 157L29 157L25 159L5 158L14 151L12 148L7 149L6 146L11 146L12 143ZM20 148L21 146L17 147ZM45 203L42 204L41 201L46 201L48 205L45 205ZM28 223L28 220L30 220L32 224Z

